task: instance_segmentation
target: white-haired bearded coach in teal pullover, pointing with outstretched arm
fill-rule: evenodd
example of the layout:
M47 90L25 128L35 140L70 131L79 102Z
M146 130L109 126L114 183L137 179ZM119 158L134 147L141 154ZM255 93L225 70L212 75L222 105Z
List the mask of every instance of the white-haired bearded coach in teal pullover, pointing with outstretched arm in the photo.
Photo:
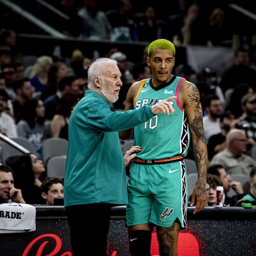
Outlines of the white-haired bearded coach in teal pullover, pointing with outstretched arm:
M64 177L72 253L106 255L113 205L127 204L125 165L140 147L123 156L118 131L150 120L157 113L174 112L170 97L134 111L112 111L122 86L116 60L97 59L88 69L88 89L68 122L68 151ZM129 159L127 162L125 159ZM79 230L86 230L81 236Z

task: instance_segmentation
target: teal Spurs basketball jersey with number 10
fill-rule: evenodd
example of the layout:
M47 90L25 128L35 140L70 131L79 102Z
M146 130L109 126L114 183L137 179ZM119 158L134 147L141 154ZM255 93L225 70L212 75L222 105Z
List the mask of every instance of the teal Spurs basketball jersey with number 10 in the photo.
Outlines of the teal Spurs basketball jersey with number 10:
M154 105L159 100L177 96L172 100L174 113L156 114L147 122L134 127L134 145L142 147L140 159L163 159L176 155L186 156L190 140L188 117L181 106L178 93L182 77L173 76L171 81L155 88L151 78L145 79L134 99L134 108Z

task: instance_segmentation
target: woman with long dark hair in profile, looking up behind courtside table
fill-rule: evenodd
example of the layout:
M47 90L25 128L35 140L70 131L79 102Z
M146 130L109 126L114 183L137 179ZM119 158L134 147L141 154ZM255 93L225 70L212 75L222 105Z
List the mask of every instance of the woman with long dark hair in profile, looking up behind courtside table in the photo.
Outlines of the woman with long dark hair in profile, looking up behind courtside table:
M45 204L41 196L41 184L45 178L43 161L34 154L24 154L15 159L9 159L8 165L14 173L16 188L21 189L27 204Z

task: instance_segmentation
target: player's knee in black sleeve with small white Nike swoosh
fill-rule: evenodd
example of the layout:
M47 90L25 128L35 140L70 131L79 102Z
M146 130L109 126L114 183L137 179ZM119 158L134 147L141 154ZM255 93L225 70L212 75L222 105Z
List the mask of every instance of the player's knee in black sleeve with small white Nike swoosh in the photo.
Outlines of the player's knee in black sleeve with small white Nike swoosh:
M132 256L150 256L151 231L129 230L129 244Z

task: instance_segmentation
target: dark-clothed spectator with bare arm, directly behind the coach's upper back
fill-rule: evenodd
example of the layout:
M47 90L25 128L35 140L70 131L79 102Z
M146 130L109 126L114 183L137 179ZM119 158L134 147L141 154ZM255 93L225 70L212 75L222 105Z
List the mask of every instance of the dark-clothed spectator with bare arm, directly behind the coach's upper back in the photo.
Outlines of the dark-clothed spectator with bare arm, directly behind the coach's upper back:
M68 122L72 110L79 101L79 97L73 93L65 93L61 97L56 109L56 114L51 122L51 135L54 138L64 138L68 140Z

